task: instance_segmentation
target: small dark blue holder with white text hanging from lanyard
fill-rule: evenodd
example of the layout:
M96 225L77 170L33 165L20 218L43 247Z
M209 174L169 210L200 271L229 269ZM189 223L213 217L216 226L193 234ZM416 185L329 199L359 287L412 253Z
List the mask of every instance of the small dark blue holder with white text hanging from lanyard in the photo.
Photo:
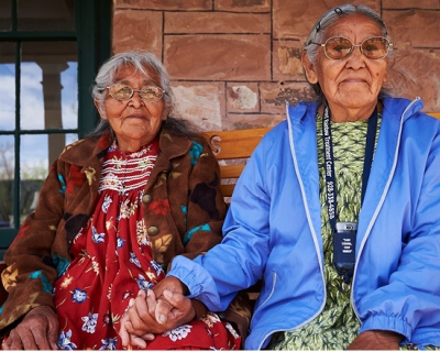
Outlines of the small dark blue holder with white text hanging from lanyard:
M356 222L337 222L333 237L333 264L339 275L354 267L356 246Z

